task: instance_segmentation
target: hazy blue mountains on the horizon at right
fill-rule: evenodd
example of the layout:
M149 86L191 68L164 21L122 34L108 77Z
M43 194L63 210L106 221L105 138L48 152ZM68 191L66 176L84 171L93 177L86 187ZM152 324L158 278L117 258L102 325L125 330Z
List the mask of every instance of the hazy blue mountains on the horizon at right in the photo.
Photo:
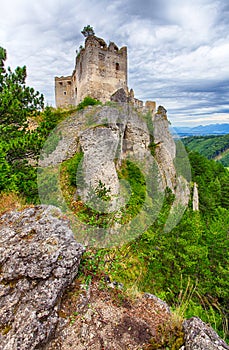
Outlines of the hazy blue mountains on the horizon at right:
M181 136L205 136L229 134L229 124L209 124L195 127L173 127L175 132Z

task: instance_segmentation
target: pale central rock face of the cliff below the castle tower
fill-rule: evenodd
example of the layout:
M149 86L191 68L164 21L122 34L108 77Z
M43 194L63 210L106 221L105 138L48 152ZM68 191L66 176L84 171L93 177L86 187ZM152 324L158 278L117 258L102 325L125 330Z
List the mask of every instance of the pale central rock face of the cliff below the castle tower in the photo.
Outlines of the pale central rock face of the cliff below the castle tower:
M96 188L101 181L110 189L111 202L100 203L103 211L114 211L121 203L117 200L120 194L117 165L121 160L134 157L142 161L149 156L150 136L146 122L127 105L119 108L103 107L93 115L93 123L80 133L79 144L84 153L84 183L78 194L87 201L89 189Z

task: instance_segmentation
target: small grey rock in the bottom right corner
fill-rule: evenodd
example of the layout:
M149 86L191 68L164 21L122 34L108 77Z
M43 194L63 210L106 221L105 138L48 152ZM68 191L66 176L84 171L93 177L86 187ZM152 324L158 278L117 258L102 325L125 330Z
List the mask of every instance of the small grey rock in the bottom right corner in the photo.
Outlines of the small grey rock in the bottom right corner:
M229 346L218 334L198 317L192 317L183 323L185 345L181 350L225 350Z

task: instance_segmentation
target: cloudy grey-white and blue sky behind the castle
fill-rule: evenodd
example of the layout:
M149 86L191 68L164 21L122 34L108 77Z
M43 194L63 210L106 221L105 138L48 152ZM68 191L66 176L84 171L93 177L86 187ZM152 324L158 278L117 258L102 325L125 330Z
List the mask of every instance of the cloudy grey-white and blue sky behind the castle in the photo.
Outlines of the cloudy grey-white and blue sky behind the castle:
M55 105L54 77L70 75L82 28L128 47L128 85L174 126L229 123L228 0L6 0L0 46L7 65Z

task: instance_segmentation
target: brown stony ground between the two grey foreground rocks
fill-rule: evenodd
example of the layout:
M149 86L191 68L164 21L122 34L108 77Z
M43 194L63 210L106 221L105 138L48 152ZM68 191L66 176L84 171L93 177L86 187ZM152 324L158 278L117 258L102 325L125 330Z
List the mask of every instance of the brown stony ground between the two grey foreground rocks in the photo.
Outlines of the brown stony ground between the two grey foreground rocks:
M59 335L47 350L175 350L183 344L182 320L163 302L131 298L104 279L77 279L59 314Z

